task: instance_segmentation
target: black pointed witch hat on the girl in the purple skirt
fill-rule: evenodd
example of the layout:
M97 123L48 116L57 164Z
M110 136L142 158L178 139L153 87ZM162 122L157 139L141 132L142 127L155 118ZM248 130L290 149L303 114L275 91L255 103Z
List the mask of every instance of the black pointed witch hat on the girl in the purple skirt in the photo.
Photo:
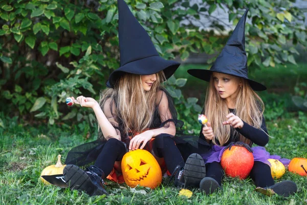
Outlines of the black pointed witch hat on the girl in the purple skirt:
M240 18L226 46L216 58L210 70L190 69L188 73L194 77L209 81L212 72L225 73L245 78L255 91L267 90L266 86L248 78L247 55L245 52L245 22L248 9Z

